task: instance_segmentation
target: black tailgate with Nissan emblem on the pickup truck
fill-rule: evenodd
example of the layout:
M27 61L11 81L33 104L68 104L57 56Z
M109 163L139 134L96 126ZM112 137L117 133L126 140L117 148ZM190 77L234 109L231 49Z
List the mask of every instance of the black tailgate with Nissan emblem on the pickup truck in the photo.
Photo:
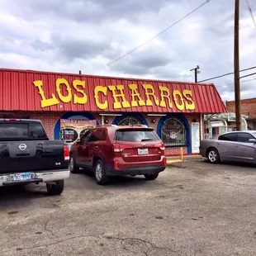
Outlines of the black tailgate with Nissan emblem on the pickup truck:
M0 142L0 173L68 168L61 140Z

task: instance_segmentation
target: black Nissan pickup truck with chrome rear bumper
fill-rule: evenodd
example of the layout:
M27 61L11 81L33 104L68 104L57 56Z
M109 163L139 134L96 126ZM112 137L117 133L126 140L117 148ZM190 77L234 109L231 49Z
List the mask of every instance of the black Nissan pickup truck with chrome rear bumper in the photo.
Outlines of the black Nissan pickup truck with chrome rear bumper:
M0 187L46 183L50 195L69 178L69 147L49 140L41 121L0 119Z

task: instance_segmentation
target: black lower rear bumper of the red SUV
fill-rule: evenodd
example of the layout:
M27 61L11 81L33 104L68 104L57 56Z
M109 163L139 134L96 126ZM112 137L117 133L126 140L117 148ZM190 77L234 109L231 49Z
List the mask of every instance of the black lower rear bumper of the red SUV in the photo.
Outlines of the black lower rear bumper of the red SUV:
M165 166L159 165L141 165L128 167L126 169L115 169L106 168L106 173L108 176L124 176L124 175L143 175L143 174L153 174L163 172Z

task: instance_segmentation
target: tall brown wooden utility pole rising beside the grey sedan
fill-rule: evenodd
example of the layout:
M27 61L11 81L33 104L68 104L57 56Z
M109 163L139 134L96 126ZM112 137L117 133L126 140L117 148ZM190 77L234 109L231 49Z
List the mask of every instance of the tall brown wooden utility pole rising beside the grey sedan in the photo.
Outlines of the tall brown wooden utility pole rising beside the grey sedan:
M240 81L239 81L239 0L235 0L234 83L235 83L236 130L241 130Z

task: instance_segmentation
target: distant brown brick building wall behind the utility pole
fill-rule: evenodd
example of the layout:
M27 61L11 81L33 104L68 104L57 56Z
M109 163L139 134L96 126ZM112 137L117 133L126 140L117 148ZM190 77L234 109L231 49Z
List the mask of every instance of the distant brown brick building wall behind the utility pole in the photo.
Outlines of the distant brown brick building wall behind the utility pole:
M228 111L235 113L235 101L227 102ZM241 100L241 113L244 116L256 117L256 98Z

